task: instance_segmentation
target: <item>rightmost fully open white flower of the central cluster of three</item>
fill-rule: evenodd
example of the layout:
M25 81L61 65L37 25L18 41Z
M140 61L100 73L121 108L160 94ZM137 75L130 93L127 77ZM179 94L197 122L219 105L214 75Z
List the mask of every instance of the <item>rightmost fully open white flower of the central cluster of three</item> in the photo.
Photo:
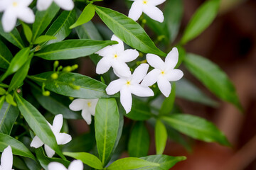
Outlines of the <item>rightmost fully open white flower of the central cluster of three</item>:
M183 72L180 69L174 69L178 63L178 50L176 47L169 52L165 62L157 55L146 55L147 62L154 67L142 81L143 86L152 86L156 83L164 96L168 97L171 94L171 84L169 81L178 81L183 77Z

